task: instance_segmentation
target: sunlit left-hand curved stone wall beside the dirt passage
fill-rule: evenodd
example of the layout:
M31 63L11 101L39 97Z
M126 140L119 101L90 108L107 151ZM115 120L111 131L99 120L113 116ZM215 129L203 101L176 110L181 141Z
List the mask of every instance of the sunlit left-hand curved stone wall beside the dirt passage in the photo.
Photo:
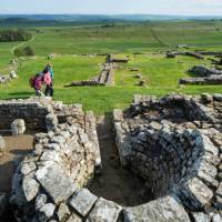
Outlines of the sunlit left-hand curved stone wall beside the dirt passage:
M70 198L101 169L93 113L84 113L81 105L46 102L53 111L47 115L48 132L34 135L32 153L18 165L13 175L10 203L17 209L18 221L65 218L63 210L68 209ZM53 117L49 117L52 113ZM63 123L56 124L54 119ZM70 211L68 218L74 216L74 212Z

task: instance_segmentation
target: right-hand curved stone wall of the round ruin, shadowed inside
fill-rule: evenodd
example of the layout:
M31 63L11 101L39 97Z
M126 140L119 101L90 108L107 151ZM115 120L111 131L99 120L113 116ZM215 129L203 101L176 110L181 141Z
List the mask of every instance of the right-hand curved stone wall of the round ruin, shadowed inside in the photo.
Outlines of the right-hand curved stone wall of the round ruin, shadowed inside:
M222 221L222 94L135 95L113 117L122 165L157 198L124 221Z

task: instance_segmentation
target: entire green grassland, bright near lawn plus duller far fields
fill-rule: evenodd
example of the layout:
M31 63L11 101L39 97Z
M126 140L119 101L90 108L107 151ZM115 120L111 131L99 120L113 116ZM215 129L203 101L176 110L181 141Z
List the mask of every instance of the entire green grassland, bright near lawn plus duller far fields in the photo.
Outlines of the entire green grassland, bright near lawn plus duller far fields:
M34 38L24 42L31 46L37 57L20 58L19 78L8 85L0 87L0 99L27 98L33 95L28 84L29 78L41 71L48 62L47 56L58 56L50 62L54 69L54 99L65 103L82 103L97 113L110 112L113 108L124 108L135 93L163 95L170 92L199 94L221 92L222 87L178 85L179 78L189 77L188 69L193 64L211 65L209 60L189 57L167 59L160 52L174 49L178 44L189 44L191 50L222 51L222 21L147 22L141 24L117 24L114 27L51 27L28 28ZM38 31L37 31L38 30ZM13 59L11 50L19 42L0 43L0 72L6 72ZM130 62L115 71L114 87L64 88L65 83L90 79L101 71L105 57L81 57L81 53L120 53ZM133 52L149 52L135 56ZM129 68L139 68L131 72ZM147 80L147 87L138 87L137 73Z

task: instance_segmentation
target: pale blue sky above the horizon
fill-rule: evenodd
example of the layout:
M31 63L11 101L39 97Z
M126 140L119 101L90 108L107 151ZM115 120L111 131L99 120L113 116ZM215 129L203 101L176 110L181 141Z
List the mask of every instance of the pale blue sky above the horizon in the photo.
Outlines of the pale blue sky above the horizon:
M0 13L222 16L222 0L0 0Z

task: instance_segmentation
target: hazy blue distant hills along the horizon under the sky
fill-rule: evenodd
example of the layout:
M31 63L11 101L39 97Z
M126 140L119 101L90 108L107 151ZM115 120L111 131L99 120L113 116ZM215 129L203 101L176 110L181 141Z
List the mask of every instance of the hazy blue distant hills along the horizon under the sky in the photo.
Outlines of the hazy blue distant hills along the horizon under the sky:
M184 17L162 14L0 14L0 26L36 24L57 26L61 23L102 23L102 22L141 22L141 21L171 21L171 20L212 20L222 17Z

